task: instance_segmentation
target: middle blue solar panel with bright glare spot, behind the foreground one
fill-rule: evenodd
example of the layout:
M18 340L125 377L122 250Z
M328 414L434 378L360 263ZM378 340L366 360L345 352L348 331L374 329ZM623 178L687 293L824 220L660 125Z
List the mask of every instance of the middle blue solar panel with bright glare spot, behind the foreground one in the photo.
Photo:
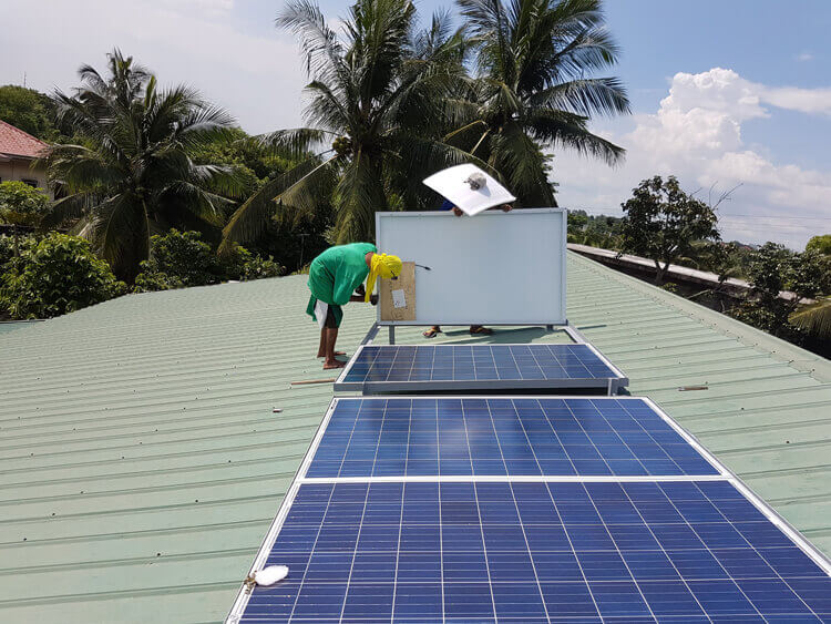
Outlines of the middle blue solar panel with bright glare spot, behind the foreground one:
M341 398L305 477L717 474L637 398Z

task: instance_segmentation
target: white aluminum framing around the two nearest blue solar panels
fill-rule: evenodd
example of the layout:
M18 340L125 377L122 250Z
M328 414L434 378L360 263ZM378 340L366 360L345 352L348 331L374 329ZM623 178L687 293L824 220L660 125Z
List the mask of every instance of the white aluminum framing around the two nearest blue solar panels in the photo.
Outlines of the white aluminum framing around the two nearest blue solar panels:
M409 399L423 399L425 397L397 397L397 398L409 398ZM481 399L481 396L460 396L455 397L459 399ZM515 397L489 397L489 398L515 398ZM546 396L527 396L523 397L527 399L550 399L551 397ZM582 396L563 396L558 398L564 399L585 399L586 397ZM663 409L658 407L655 401L647 397L615 397L615 400L629 400L629 399L638 399L646 402L650 408L655 410L656 413L658 413L664 420L666 420L670 427L673 427L685 440L687 440L698 452L701 453L702 457L705 457L712 466L715 466L718 471L720 472L719 475L678 475L678 477L461 477L461 478L451 478L451 477L394 477L394 478L388 478L388 477L369 477L369 478L331 478L331 479L307 479L305 478L305 474L307 473L309 466L311 464L311 460L315 457L315 453L317 452L317 448L320 444L320 441L322 440L324 433L326 432L326 428L331 420L331 416L335 411L335 407L337 406L337 402L341 400L338 397L335 397L329 405L329 408L327 409L326 416L324 417L324 420L320 422L320 426L318 427L317 433L315 434L315 438L311 441L311 444L309 446L309 449L306 451L306 454L304 456L302 462L300 463L300 468L295 473L295 477L291 481L291 484L289 485L288 490L286 491L286 495L283 498L283 502L280 504L280 508L277 512L277 515L275 516L274 521L271 522L270 528L268 529L268 533L266 533L265 539L263 540L263 544L260 545L259 550L257 551L257 555L254 559L254 563L252 564L252 567L248 572L248 574L253 574L257 570L261 570L266 561L268 560L268 554L271 552L271 549L274 548L274 543L277 540L277 535L279 535L280 530L283 529L283 524L286 521L286 518L288 515L289 510L291 509L291 505L294 504L295 498L297 497L297 492L299 491L300 487L304 484L311 484L311 483L349 483L349 482L361 482L361 483L371 483L373 481L396 481L396 482L413 482L413 481L427 481L431 483L437 482L447 482L447 481L461 481L461 482L475 482L475 481L490 481L490 482L520 482L520 481L534 481L534 482L567 482L567 481L581 481L581 482L601 482L601 481L612 481L612 482L636 482L636 481L646 481L646 482L669 482L669 481L727 481L730 483L733 488L736 488L741 494L743 494L750 503L758 509L765 518L767 518L771 524L777 526L782 533L784 533L797 546L804 552L821 570L823 570L829 576L831 576L831 559L825 556L822 552L820 552L813 544L811 544L806 538L802 536L802 534L793 526L791 525L784 518L779 515L777 511L773 510L765 500L759 498L756 493L753 493L750 488L748 488L741 479L739 479L729 468L727 468L725 464L722 464L712 453L710 453L699 441L698 439L689 433L686 429L684 429L680 424L675 422ZM606 400L601 397L595 398L595 400ZM290 574L290 571L289 571ZM243 583L239 592L237 593L237 596L234 601L234 604L230 608L230 612L228 613L228 616L226 617L225 622L226 624L238 624L240 618L243 617L245 613L245 608L248 605L248 601L250 599L250 591L248 586Z

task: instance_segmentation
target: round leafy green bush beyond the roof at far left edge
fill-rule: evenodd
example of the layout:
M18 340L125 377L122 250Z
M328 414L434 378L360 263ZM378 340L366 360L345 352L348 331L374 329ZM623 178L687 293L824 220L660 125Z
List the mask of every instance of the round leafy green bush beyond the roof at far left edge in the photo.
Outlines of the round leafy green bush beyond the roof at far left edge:
M60 316L124 291L89 242L65 234L29 238L0 275L0 308L17 319Z

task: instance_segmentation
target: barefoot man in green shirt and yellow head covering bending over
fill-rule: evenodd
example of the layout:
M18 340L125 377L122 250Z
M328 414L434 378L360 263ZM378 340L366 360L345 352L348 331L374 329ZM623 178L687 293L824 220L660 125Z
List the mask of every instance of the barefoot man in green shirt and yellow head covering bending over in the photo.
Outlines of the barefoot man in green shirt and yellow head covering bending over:
M352 243L329 247L309 266L309 290L311 297L306 314L320 326L320 347L317 357L326 358L324 370L342 368L346 362L335 356L346 355L335 350L338 328L343 319L341 306L349 301L375 304L372 289L378 277L389 279L401 273L401 259L398 256L379 254L371 243ZM363 280L367 286L363 296L356 295L356 289Z

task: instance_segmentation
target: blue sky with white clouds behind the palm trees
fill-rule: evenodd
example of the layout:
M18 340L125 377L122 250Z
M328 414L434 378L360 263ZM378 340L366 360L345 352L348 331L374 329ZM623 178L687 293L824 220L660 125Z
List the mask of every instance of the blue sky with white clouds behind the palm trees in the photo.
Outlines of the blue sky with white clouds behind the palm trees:
M296 42L273 20L283 2L40 0L0 22L0 84L69 89L113 45L163 83L187 81L249 132L301 121ZM321 2L331 18L345 2ZM424 19L450 2L417 3ZM628 151L609 170L555 150L560 202L609 214L639 180L675 173L689 190L741 186L721 206L727 238L801 248L831 232L831 1L607 0L623 49L612 73L633 115L596 120ZM94 19L90 19L94 16ZM72 32L72 37L66 37ZM25 52L21 53L21 50ZM731 216L749 215L749 216Z

